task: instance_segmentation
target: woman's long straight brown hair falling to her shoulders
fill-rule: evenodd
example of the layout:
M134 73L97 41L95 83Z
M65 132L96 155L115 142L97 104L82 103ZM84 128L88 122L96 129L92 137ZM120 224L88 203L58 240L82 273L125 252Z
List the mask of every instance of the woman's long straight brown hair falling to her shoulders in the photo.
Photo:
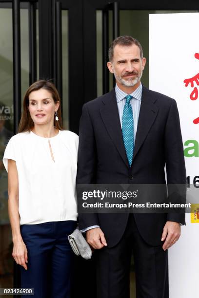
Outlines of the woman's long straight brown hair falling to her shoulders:
M38 91L40 89L45 89L48 92L51 93L53 100L55 103L60 102L60 95L55 87L55 85L49 81L46 80L39 80L36 81L35 83L33 83L28 90L26 91L24 98L23 98L23 112L21 115L21 119L20 119L20 124L19 124L19 128L18 128L18 132L23 132L23 131L28 131L28 130L32 130L34 127L34 122L30 116L30 112L28 110L28 106L29 106L29 95L31 92L33 91ZM56 127L59 130L63 130L62 127L62 119L61 119L61 109L59 106L59 109L57 111L58 114L58 118L59 120L56 121L54 118L54 127Z

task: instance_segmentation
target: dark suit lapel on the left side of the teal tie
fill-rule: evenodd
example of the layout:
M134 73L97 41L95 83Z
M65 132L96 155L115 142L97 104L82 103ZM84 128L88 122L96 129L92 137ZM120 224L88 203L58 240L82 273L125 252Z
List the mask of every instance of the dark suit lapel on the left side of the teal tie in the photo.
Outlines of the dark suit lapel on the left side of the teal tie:
M118 149L121 158L123 159L126 166L129 168L128 160L126 157L126 150L123 144L115 88L109 93L109 96L102 99L102 102L103 107L100 109L100 114L103 123L110 135L110 138Z

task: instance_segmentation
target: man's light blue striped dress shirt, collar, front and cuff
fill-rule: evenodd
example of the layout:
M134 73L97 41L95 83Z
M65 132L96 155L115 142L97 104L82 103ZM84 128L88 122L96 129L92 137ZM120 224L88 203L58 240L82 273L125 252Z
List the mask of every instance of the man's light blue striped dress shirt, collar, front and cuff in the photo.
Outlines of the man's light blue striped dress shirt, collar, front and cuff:
M133 96L133 98L130 101L130 104L131 104L131 107L133 110L134 144L135 144L136 132L137 132L137 128L138 128L139 111L140 111L140 105L141 105L142 84L140 84L139 87L134 92L132 92L130 94L127 94L127 93L123 92L121 89L119 89L117 84L116 84L115 91L116 91L116 100L117 100L117 105L118 105L119 120L120 120L121 127L122 127L122 115L123 115L124 105L126 102L125 97L126 97L126 95ZM89 227L81 230L81 232L86 232L86 231L96 228L96 227L100 227L100 226L92 225L92 226L89 226Z

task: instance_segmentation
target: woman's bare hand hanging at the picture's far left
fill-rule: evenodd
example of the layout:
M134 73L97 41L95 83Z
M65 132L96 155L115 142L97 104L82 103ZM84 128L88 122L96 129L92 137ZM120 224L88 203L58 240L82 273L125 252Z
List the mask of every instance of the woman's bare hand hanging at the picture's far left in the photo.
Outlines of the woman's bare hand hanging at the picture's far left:
M13 243L13 258L15 259L17 264L20 264L25 270L27 270L28 268L26 263L28 262L28 251L25 243L23 242L22 238L21 240L13 241Z

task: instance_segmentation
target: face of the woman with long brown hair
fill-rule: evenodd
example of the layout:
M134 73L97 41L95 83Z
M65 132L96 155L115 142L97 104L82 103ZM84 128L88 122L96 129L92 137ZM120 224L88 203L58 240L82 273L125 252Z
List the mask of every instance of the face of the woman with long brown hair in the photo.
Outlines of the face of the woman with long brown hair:
M29 94L28 110L33 122L37 125L54 123L55 112L59 108L59 101L54 102L52 94L40 89Z

